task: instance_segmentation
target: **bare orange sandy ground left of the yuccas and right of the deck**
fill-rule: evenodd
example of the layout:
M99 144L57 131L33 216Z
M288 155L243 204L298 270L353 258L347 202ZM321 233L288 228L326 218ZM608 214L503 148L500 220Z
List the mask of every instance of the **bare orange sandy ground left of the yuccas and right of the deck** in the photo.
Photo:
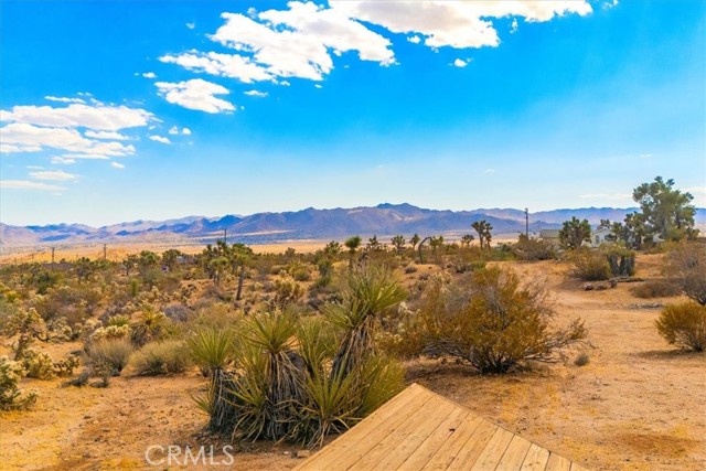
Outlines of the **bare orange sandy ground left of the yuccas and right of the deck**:
M638 275L656 276L657 264L657 256L641 257ZM573 355L531 372L481 377L462 365L416 361L408 381L591 470L706 469L706 355L667 345L653 325L659 309L646 307L671 300L634 298L628 283L584 291L580 282L566 281L558 263L510 265L546 279L559 321L586 320L590 362L576 366ZM298 447L270 443L237 446L227 468L146 462L150 446L213 445L214 461L227 460L218 454L225 443L200 433L205 417L189 393L205 381L195 373L140 378L128 372L106 389L60 383L25 381L23 387L40 390L38 405L0 415L0 469L287 470L301 462Z

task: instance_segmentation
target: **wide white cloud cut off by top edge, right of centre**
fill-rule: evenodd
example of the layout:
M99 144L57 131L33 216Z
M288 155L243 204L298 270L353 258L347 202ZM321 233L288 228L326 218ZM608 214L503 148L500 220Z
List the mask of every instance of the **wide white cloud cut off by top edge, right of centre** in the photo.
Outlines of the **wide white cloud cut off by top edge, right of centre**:
M587 1L353 1L331 0L347 18L378 24L393 33L418 33L430 47L457 49L500 44L492 19L522 17L528 22L591 12Z

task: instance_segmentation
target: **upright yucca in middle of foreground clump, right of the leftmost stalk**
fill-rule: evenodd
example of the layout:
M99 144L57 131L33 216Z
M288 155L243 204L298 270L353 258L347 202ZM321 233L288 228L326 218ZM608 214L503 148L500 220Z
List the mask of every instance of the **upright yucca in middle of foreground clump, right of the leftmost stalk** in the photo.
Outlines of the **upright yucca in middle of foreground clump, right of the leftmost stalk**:
M297 404L303 399L307 365L295 351L297 318L291 313L263 313L244 325L243 373L233 394L237 427L246 438L282 440L297 425Z

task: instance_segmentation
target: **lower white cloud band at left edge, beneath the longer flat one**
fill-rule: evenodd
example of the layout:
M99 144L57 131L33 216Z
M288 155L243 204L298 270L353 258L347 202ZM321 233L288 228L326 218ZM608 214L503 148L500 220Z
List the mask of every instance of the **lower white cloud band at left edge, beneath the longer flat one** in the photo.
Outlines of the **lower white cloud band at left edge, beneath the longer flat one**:
M38 152L44 148L62 149L69 152L99 153L105 156L128 156L135 153L133 146L120 142L86 139L75 129L39 127L12 122L0 128L3 152Z

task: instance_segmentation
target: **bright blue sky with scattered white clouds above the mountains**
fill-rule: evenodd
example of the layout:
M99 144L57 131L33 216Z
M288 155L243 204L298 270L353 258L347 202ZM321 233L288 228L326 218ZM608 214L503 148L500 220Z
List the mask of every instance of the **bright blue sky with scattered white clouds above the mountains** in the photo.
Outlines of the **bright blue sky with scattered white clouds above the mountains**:
M706 2L0 1L0 221L706 206Z

